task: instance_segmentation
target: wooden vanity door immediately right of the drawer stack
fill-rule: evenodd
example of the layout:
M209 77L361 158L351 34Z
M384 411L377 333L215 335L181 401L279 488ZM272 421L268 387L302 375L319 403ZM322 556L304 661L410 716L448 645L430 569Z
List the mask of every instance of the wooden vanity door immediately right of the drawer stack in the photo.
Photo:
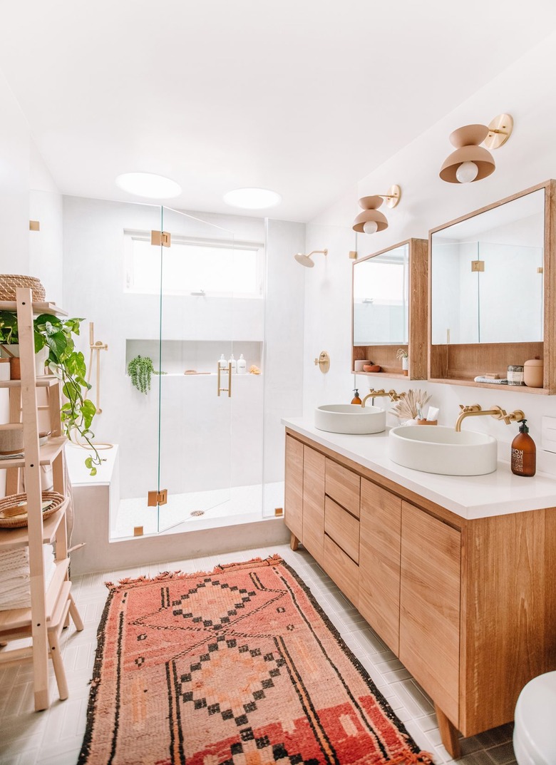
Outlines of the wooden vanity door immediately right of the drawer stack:
M398 655L402 500L361 479L359 611Z

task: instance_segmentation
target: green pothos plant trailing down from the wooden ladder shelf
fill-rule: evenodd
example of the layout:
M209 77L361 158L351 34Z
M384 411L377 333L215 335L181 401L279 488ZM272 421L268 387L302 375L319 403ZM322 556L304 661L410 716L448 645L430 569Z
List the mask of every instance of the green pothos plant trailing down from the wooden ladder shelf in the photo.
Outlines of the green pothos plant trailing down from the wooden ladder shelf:
M65 399L60 408L63 431L71 438L76 431L93 454L85 465L92 476L102 459L93 444L95 434L91 430L96 407L86 398L91 386L86 381L86 363L83 353L75 349L72 334L80 334L83 319L60 319L41 314L33 320L34 352L48 348L47 366L62 383ZM18 316L12 311L0 311L0 343L13 345L19 342Z

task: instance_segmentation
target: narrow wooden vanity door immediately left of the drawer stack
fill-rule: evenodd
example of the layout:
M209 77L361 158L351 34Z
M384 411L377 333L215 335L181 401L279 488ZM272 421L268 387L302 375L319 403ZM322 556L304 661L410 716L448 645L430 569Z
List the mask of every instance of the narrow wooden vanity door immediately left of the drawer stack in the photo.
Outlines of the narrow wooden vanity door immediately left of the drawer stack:
M324 555L324 464L326 457L304 446L303 538L305 548L318 562Z

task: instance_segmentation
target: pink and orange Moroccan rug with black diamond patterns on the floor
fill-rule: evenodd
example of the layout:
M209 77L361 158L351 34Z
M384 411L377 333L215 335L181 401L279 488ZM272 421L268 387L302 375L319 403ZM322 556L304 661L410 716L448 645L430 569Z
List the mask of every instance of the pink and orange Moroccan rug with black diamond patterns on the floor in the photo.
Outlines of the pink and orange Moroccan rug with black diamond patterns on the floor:
M278 555L109 590L79 765L431 763Z

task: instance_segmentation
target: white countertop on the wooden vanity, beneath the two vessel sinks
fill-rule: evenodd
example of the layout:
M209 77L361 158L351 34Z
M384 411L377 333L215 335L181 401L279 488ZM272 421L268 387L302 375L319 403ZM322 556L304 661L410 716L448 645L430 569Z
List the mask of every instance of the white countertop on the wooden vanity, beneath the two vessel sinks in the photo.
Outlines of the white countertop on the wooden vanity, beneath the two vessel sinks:
M498 469L485 476L421 473L389 459L389 428L372 435L346 435L317 430L308 418L283 418L281 422L462 518L486 518L556 506L556 478L543 473L532 478L515 476L509 462L499 461Z

